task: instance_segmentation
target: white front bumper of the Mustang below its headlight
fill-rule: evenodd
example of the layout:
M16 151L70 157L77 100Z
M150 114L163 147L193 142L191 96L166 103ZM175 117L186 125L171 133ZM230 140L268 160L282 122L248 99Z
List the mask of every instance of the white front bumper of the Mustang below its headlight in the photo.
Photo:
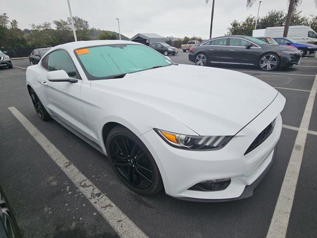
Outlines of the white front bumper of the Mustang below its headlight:
M262 114L239 131L222 149L188 151L174 148L150 130L140 136L153 155L164 183L165 192L192 201L227 201L252 195L273 161L282 130L280 112L285 98L280 94ZM244 155L261 131L276 118L270 136L256 149ZM219 191L189 190L193 185L213 179L230 178L228 187ZM258 180L259 179L259 180Z

